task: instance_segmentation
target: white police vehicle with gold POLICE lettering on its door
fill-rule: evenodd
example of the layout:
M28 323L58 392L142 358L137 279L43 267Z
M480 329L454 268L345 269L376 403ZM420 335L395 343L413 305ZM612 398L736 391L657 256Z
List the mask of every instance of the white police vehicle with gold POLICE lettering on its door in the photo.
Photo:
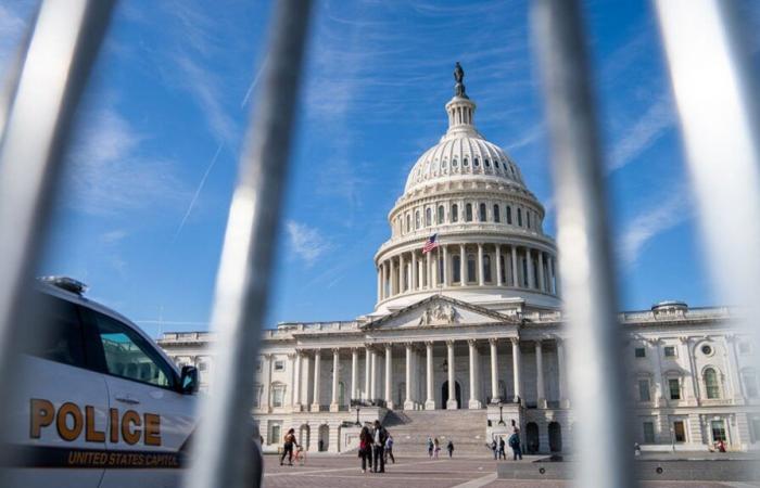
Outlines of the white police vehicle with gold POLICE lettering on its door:
M198 423L199 373L178 371L144 332L85 290L58 277L35 286L30 320L45 320L50 334L25 341L25 381L7 433L15 455L2 485L179 486Z

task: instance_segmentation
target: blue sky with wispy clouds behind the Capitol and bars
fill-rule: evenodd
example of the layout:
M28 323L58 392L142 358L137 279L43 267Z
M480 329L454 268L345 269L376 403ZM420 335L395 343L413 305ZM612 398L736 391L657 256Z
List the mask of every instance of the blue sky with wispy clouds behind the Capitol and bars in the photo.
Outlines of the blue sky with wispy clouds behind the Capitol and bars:
M445 130L455 61L480 131L518 163L554 234L527 2L316 5L265 326L372 309L372 255L408 170ZM584 5L621 307L711 305L651 5ZM0 4L0 68L33 8ZM121 3L77 117L40 274L81 279L154 335L207 328L269 13L264 1Z

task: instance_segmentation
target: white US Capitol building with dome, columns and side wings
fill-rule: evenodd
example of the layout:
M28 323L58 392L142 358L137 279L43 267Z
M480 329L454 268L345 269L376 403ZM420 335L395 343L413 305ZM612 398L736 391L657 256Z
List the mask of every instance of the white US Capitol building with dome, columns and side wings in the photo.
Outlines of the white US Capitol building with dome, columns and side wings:
M265 449L289 428L309 450L354 449L357 422L381 419L425 450L447 429L458 452L521 426L523 449L572 449L568 331L557 249L520 169L474 125L457 63L448 129L417 160L375 255L377 304L353 321L264 331L253 414ZM436 235L439 246L422 253ZM726 308L664 301L619 316L633 432L644 449L760 449L760 350ZM208 377L207 332L165 333L178 364ZM254 372L252 372L254 374ZM204 388L208 385L204 384ZM213 387L211 388L213 391ZM459 419L459 421L457 421ZM464 423L464 425L461 425ZM477 447L476 447L477 446Z

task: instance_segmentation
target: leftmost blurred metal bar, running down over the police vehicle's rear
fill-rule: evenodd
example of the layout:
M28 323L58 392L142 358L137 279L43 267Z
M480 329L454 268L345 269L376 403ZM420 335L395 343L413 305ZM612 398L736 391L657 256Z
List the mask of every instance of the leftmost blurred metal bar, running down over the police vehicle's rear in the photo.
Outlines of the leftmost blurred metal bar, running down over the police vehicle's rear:
M14 319L45 237L72 118L114 3L43 2L18 78L10 81L14 97L4 103L0 140L0 398L12 393L14 382L8 380L20 348ZM8 403L0 402L0 410ZM0 419L8 418L0 411Z

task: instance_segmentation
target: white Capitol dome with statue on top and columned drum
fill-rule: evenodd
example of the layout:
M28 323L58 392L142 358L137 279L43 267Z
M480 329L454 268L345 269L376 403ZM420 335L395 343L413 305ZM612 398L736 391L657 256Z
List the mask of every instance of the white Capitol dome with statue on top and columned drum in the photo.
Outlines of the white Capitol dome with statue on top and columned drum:
M375 255L375 314L434 294L520 313L559 308L556 245L544 207L511 158L474 125L457 63L448 128L411 168ZM423 252L432 240L433 251Z

